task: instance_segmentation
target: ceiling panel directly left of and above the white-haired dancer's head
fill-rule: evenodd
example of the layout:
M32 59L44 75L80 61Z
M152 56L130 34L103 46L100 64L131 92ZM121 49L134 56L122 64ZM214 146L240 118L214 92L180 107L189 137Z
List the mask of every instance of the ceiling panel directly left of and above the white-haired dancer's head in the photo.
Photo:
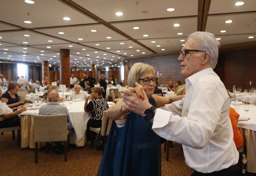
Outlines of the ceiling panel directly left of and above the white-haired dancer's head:
M174 27L174 24L180 26ZM167 38L188 36L197 30L197 18L177 18L169 20L140 21L130 23L112 23L116 28L134 39ZM133 29L139 27L139 29ZM182 33L182 35L178 35ZM143 35L148 35L144 37Z

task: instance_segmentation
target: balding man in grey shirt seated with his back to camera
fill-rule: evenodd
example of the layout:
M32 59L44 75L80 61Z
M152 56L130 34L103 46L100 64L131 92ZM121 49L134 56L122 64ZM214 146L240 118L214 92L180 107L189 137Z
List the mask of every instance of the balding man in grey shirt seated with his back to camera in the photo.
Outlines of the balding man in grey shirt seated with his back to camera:
M52 115L52 114L67 114L68 130L72 129L72 124L69 122L68 109L58 103L59 93L52 91L48 95L48 104L43 105L39 109L39 115ZM54 147L54 152L57 154L64 152L64 142L51 142Z

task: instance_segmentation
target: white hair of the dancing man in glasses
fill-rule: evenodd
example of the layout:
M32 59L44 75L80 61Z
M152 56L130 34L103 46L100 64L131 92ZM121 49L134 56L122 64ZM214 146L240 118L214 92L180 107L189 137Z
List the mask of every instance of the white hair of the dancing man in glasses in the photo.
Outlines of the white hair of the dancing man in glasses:
M197 31L188 36L188 40L192 38L200 41L201 48L198 49L210 53L210 66L214 69L218 62L220 42L210 32Z

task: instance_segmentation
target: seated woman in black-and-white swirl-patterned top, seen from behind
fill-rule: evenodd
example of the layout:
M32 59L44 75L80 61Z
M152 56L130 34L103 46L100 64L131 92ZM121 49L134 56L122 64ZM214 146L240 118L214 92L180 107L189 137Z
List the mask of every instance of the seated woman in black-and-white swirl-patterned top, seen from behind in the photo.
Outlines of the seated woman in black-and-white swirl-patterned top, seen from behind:
M92 88L91 96L88 96L84 103L84 111L92 112L91 118L87 122L86 136L90 139L90 127L100 128L103 111L108 110L108 103L105 98L101 97L102 90L99 87ZM92 99L89 103L88 100Z

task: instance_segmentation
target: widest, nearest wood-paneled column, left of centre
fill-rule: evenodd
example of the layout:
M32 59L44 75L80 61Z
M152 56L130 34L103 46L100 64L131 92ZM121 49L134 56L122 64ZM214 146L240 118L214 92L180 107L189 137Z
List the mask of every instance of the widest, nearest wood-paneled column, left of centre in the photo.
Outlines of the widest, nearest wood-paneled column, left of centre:
M60 49L60 83L70 88L70 51Z

